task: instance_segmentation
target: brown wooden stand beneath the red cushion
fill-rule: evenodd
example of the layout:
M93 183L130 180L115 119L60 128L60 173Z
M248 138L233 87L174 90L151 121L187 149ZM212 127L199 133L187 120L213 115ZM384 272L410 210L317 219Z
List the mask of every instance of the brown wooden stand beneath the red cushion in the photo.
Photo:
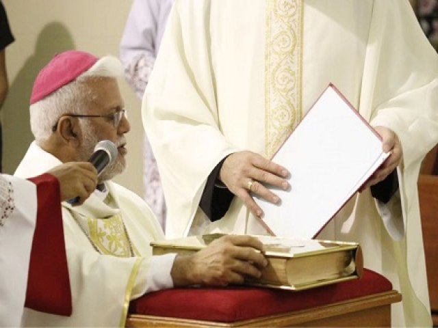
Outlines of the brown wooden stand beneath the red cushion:
M127 327L391 327L391 303L401 299L400 293L390 290L307 310L234 323L129 314Z

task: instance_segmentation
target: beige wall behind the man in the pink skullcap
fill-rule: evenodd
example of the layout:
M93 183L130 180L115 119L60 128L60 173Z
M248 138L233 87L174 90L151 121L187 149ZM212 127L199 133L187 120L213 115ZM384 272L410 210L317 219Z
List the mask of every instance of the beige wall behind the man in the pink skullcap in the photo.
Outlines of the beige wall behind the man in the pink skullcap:
M10 93L2 109L3 171L12 174L33 139L29 95L38 71L68 49L118 56L130 0L3 0L16 41L6 51ZM140 100L125 81L120 91L129 110L128 169L116 180L142 195Z

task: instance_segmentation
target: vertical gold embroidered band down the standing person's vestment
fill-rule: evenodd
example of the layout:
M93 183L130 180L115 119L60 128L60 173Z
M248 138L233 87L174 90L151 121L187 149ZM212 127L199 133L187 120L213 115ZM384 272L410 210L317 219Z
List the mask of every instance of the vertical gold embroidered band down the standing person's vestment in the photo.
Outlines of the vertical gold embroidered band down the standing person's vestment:
M302 118L303 0L266 0L265 153L270 159Z

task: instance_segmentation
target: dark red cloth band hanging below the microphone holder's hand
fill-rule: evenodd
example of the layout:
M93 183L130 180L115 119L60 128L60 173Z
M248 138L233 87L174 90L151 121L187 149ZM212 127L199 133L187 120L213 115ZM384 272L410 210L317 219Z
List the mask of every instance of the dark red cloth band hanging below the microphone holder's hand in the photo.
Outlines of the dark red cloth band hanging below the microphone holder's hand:
M42 174L28 180L36 184L38 210L25 307L70 316L72 299L59 182L50 174Z

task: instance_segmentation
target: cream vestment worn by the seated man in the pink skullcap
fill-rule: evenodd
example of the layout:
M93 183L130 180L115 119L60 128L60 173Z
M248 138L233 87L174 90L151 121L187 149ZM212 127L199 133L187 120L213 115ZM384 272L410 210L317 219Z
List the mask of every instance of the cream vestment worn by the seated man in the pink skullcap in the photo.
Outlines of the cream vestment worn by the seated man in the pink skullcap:
M31 143L15 175L35 176L59 165ZM25 310L24 325L125 327L129 301L144 292L173 286L175 255L152 256L151 241L164 238L150 208L111 181L81 206L62 202L62 218L73 297L70 317Z

